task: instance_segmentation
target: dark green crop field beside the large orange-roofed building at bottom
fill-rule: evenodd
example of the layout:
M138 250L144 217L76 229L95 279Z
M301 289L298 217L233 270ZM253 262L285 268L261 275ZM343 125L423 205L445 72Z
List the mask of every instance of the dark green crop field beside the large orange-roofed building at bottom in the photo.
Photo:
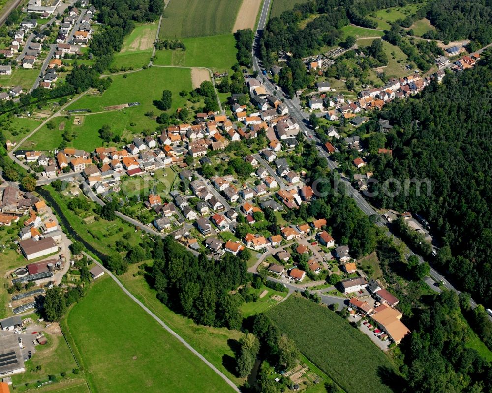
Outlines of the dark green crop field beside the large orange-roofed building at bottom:
M291 296L267 315L311 362L348 393L392 392L379 377L381 367L393 368L388 358L369 337L333 311Z

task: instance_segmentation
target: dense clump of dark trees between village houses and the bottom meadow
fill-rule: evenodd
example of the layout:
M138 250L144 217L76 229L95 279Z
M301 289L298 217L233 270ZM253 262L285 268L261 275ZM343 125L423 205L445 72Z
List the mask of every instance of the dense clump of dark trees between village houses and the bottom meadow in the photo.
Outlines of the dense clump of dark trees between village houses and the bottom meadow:
M249 282L251 276L239 257L230 253L217 261L204 254L196 257L168 236L154 247L149 278L161 302L197 324L241 326L239 306L245 300L229 292Z

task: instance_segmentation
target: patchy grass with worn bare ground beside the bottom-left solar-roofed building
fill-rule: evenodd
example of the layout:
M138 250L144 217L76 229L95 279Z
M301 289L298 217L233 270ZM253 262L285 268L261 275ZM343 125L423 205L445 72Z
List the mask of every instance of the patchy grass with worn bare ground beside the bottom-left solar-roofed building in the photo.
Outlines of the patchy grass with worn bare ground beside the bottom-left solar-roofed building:
M72 370L77 367L70 348L61 333L46 334L48 343L36 346L32 358L25 362L26 372L12 375L12 383L16 391L24 391L37 386L37 381L47 381L48 375L55 375L58 380L77 377ZM37 366L40 371L36 371ZM61 372L66 373L62 378ZM28 384L28 386L26 386Z

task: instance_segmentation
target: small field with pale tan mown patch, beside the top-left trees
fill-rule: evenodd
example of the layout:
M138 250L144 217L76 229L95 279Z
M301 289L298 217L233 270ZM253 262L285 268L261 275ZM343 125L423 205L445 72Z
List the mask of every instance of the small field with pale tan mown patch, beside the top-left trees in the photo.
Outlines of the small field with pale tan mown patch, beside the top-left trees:
M158 23L139 23L123 41L122 50L115 55L111 67L140 68L148 64L152 56Z

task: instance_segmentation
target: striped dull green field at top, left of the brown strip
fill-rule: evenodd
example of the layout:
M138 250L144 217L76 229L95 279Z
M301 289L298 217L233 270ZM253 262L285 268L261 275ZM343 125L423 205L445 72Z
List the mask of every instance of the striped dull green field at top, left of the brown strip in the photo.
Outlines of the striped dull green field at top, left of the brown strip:
M161 38L230 33L242 0L171 1L164 10ZM219 48L217 48L219 50Z

